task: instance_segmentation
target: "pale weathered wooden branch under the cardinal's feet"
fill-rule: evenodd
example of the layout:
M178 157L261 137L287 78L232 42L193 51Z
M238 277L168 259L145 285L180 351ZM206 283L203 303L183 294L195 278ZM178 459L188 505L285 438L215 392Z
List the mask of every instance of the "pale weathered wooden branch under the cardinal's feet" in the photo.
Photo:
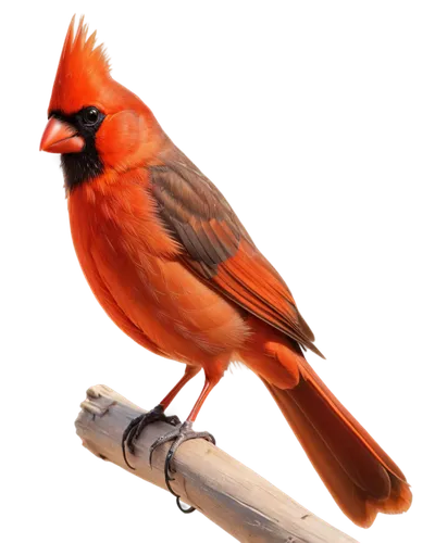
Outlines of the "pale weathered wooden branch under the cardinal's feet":
M173 429L166 422L148 426L127 452L133 471L123 459L121 438L128 422L144 409L112 387L88 387L74 418L74 432L91 455L163 489L164 458L170 444L158 447L149 466L149 449L159 435ZM200 431L200 430L198 430ZM190 440L175 454L174 491L238 543L355 543L355 538L334 527L286 494L241 460L206 440Z

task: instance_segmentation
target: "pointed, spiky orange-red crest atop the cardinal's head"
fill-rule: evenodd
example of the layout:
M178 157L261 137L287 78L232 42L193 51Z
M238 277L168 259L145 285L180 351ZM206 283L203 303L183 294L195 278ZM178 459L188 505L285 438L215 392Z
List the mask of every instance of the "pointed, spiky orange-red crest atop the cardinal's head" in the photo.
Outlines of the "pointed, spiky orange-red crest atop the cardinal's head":
M108 45L91 28L85 14L73 13L63 34L54 75L47 98L47 114L54 110L74 113L98 101L101 78L113 75Z

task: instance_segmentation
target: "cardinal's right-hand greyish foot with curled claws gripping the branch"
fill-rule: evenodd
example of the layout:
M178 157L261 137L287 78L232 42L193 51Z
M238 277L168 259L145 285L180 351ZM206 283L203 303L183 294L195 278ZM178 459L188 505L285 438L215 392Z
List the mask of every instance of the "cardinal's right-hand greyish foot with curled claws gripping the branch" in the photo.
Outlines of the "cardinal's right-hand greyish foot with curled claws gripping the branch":
M175 479L170 476L170 471L172 473L176 472L176 469L173 466L173 458L174 458L174 454L175 454L176 450L179 447L179 445L182 443L184 443L185 441L198 439L198 438L211 441L214 445L217 443L216 437L210 430L195 430L194 422L186 420L178 428L174 428L174 430L171 430L165 435L161 435L158 440L154 441L154 443L151 445L151 449L150 449L149 462L151 464L152 454L156 451L156 449L158 446L162 445L163 443L166 443L167 441L173 441L171 449L167 452L166 459L164 463L164 479L165 479L167 489L170 490L171 494L175 498L176 508L185 515L189 515L189 514L194 513L195 509L192 507L189 507L188 505L183 504L179 501L179 496L172 490L170 481L174 481Z

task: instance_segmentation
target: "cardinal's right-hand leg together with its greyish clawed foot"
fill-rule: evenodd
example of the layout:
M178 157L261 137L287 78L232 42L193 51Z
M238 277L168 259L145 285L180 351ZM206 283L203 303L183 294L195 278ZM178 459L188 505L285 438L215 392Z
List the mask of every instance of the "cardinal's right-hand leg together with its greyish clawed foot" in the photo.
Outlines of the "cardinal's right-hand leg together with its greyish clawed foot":
M178 426L177 428L174 428L174 430L171 430L169 433L165 435L161 435L158 440L154 441L154 443L151 445L150 449L150 464L151 464L151 458L152 458L152 453L154 450L159 446L162 445L163 443L166 443L167 441L173 441L171 449L167 452L166 459L164 463L164 478L166 482L166 487L171 494L175 498L175 505L177 509L181 513L184 514L190 514L194 513L195 509L183 504L179 501L179 496L175 494L175 492L172 490L170 481L174 481L174 478L170 476L170 471L172 473L175 473L175 467L173 466L173 457L176 452L176 450L179 447L182 443L185 441L191 440L191 439L197 439L197 438L202 438L208 441L211 441L214 445L217 443L217 440L210 430L195 430L194 425L196 420L199 418L202 409L209 402L210 395L212 394L213 390L219 386L220 379L213 379L213 380L207 380L203 386L201 387L195 402L190 406L190 412L186 416L185 421Z

